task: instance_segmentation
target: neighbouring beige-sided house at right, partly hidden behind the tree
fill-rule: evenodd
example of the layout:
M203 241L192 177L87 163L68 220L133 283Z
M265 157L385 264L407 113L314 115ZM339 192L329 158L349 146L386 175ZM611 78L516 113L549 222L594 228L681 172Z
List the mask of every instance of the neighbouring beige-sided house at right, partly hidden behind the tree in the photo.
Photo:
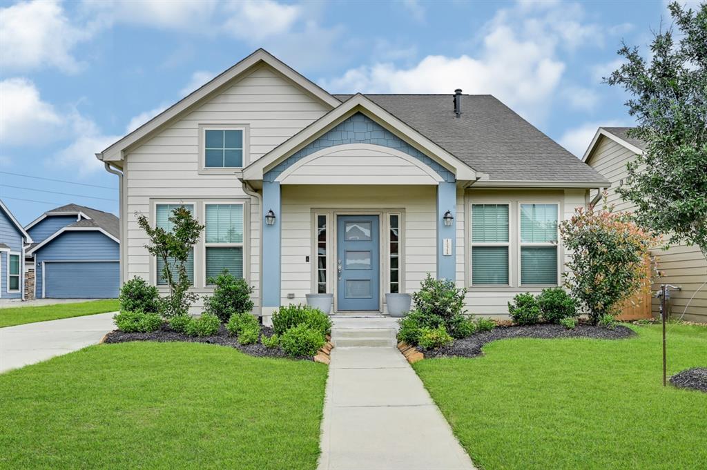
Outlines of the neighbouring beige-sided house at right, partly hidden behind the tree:
M626 183L626 163L645 151L645 143L628 135L630 127L600 127L592 139L583 161L591 165L609 180L608 201L617 211L633 211L635 206L617 194L617 187ZM653 278L653 291L661 283L680 286L681 290L670 293L670 312L675 317L684 313L684 319L707 322L707 260L699 247L676 245L670 249L655 249L658 269L664 274ZM655 269L653 269L655 272ZM694 298L693 298L694 296ZM690 298L692 300L690 301ZM660 300L653 298L652 313L660 313Z

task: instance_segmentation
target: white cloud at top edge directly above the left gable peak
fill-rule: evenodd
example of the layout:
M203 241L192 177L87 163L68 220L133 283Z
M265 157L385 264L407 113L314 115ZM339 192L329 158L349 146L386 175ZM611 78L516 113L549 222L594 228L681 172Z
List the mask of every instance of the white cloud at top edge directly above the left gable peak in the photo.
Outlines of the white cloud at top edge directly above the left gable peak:
M301 14L298 5L280 4L271 0L230 1L226 11L231 16L223 25L223 30L250 42L288 33Z

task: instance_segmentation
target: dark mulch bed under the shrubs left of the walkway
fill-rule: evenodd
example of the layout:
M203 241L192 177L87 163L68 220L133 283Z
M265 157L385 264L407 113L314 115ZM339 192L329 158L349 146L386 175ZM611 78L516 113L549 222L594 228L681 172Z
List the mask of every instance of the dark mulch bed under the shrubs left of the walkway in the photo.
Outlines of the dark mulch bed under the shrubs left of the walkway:
M272 336L273 331L271 327L260 327L261 336ZM170 341L186 341L189 343L209 343L218 344L220 346L229 346L230 348L236 348L238 351L246 353L249 356L255 356L257 358L286 358L288 357L282 348L266 348L260 343L258 339L257 343L248 344L243 346L238 343L238 339L235 336L230 336L226 327L221 325L218 330L218 334L214 336L203 336L203 337L192 337L186 334L177 333L170 329L168 324L163 324L160 329L153 331L152 333L124 333L123 331L114 330L108 333L103 340L104 343L127 343L129 341L158 341L170 342ZM312 360L312 358L302 358L305 360Z

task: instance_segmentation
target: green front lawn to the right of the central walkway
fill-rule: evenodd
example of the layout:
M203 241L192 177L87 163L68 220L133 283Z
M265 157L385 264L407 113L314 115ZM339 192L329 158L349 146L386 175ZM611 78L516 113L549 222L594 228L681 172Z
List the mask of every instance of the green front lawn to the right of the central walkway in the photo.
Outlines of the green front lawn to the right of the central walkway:
M697 469L707 394L662 387L660 326L638 337L508 339L414 368L484 469ZM707 328L670 325L668 375L707 366Z

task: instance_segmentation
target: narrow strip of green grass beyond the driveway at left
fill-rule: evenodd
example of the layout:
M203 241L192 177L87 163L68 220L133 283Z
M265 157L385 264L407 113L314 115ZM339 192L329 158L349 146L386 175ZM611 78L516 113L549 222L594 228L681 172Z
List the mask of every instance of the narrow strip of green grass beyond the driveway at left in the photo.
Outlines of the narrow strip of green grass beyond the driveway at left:
M60 318L83 317L96 313L115 312L120 305L117 299L92 300L90 302L60 303L40 307L0 308L0 328L17 324L45 322Z

